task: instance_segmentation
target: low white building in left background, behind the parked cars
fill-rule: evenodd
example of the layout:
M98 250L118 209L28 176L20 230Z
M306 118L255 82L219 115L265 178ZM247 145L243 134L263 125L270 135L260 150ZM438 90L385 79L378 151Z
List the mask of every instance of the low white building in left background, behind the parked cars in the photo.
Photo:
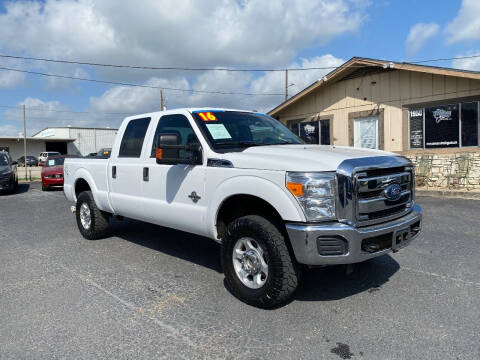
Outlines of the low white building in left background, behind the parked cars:
M50 127L27 137L27 155L43 151L58 151L61 154L86 156L101 148L113 145L118 129ZM0 136L0 150L10 152L13 159L23 156L23 136Z

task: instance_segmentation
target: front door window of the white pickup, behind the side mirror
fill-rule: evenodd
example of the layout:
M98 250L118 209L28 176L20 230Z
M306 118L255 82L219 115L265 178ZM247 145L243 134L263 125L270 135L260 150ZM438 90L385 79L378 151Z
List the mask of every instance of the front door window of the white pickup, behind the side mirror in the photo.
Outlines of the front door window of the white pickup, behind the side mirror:
M157 150L157 137L158 134L177 134L179 145L191 145L198 144L198 138L193 131L190 122L185 115L172 114L164 115L158 122L157 129L155 130L155 136L153 138L151 157L155 157L155 151ZM180 151L180 158L190 156L187 151Z

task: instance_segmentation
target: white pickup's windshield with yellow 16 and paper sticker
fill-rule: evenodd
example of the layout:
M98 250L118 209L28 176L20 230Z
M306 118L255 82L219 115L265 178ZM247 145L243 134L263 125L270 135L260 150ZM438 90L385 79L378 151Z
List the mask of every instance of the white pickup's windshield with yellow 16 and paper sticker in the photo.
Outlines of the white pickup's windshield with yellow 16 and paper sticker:
M286 126L265 114L199 110L192 115L216 149L303 144Z

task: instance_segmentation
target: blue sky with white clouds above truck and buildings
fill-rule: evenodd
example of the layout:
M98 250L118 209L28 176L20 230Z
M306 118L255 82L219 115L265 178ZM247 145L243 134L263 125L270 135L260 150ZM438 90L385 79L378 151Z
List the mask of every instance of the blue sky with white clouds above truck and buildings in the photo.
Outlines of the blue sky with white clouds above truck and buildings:
M153 67L335 67L353 56L419 61L480 54L480 1L0 0L0 29L1 55ZM431 65L480 71L480 57ZM153 87L0 70L0 136L23 132L24 104L32 135L49 126L118 127L125 116L160 110L159 88L168 88L167 108L264 112L285 91L283 72L135 70L5 57L0 67ZM289 95L329 71L289 71ZM216 91L237 94L209 93Z

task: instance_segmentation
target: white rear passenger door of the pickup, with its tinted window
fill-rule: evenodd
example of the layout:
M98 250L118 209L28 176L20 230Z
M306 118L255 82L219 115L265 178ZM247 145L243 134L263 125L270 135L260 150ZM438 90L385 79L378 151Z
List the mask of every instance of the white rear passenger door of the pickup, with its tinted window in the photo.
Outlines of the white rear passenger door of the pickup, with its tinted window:
M124 128L120 145L110 157L107 176L110 202L116 214L142 219L142 150L151 118L131 119Z

